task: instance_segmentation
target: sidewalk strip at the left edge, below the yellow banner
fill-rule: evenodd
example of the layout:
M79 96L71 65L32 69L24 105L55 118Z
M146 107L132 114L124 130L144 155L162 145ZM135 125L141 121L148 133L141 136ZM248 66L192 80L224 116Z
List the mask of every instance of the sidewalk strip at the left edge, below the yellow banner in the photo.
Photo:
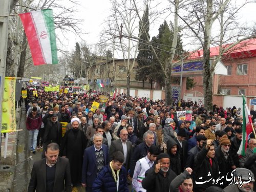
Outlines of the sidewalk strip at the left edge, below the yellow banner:
M18 108L16 112L16 129L19 129L20 114L22 108ZM17 150L17 136L18 132L12 132L8 135L7 155L4 158L5 151L5 137L2 134L1 145L1 160L0 160L0 191L11 191L15 165L16 165L16 150Z

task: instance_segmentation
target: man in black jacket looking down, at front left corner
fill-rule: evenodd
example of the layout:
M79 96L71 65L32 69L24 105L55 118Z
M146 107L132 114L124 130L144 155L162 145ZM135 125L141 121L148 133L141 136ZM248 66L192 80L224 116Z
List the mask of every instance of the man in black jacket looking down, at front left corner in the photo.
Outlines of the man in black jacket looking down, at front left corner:
M58 157L57 143L48 144L45 155L46 158L34 162L28 192L71 192L69 159Z

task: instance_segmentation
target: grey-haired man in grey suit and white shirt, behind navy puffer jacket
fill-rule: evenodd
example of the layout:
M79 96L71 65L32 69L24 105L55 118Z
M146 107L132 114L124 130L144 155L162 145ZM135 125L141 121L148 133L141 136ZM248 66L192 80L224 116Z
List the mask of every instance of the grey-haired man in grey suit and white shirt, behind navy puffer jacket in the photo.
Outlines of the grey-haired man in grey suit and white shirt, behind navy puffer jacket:
M112 141L110 146L110 161L113 160L114 152L121 152L124 155L124 163L126 170L129 169L130 158L132 155L132 142L127 140L128 132L126 129L122 129L120 131L120 139Z

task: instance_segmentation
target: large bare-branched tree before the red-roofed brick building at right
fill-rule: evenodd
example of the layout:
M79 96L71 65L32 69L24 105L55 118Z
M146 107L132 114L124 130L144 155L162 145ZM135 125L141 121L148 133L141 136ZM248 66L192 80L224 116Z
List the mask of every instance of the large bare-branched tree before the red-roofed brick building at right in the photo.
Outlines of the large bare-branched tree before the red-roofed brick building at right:
M204 105L212 109L212 79L215 67L222 58L241 41L255 38L253 26L239 22L237 14L254 0L234 2L231 0L190 0L182 6L179 18L190 30L187 37L193 38L203 48ZM225 45L225 46L224 46ZM219 55L210 58L210 46L219 47Z

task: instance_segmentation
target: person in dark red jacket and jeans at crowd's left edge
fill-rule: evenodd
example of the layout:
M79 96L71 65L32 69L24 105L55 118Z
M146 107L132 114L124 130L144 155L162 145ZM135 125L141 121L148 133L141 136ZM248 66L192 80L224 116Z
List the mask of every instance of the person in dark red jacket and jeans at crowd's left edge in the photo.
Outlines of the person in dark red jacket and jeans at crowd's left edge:
M36 140L41 123L42 118L40 114L37 113L37 108L33 107L32 113L29 114L26 121L27 130L29 130L30 151L32 151L33 154L35 154Z

